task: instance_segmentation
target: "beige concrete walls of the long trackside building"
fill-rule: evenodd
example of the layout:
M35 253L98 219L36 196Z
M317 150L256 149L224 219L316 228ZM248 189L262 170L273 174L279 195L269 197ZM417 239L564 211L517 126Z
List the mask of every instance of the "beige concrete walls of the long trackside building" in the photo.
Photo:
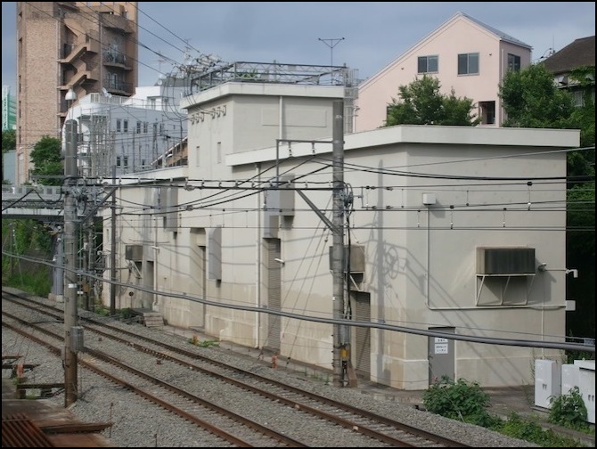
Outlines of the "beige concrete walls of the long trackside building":
M235 129L241 139L242 129ZM191 145L200 137L193 126L190 136ZM351 241L365 248L360 288L371 296L372 322L421 331L454 327L459 335L496 339L563 336L566 154L552 150L577 144L577 131L544 129L391 127L345 135L344 181L355 195ZM312 154L309 143L293 145L292 157L284 153L279 170L298 178L297 187L331 219L331 191L309 189L330 185L331 167L315 170L329 163L331 148L318 146L309 160ZM217 165L152 172L146 185L141 181L119 192L119 221L126 222L119 226L119 242L159 248L154 253L159 294L152 307L171 324L204 321L208 334L248 347L268 341L267 319L258 313L266 305L266 197L234 187L263 185L274 176L274 160L275 147L232 152ZM560 183L536 179L557 177ZM146 234L129 216L140 211L138 199L147 206L151 200L143 192L157 184L181 186L176 233L154 217L154 234ZM435 204L424 205L423 193L435 194ZM299 319L333 317L331 232L298 194L294 200L294 217L277 230L284 261L282 312L289 315L281 320L281 357L331 367L332 325ZM145 225L151 219L145 218ZM222 275L208 280L209 305L200 316L201 307L192 302L199 289L193 255L200 244L209 253L209 231L218 226ZM537 264L549 268L509 287L515 303L479 305L478 246L535 248ZM124 264L121 249L119 254ZM372 380L396 388L427 387L426 336L380 329L371 335ZM528 366L535 356L528 348L456 341L454 366L457 377L486 387L520 385L530 383Z

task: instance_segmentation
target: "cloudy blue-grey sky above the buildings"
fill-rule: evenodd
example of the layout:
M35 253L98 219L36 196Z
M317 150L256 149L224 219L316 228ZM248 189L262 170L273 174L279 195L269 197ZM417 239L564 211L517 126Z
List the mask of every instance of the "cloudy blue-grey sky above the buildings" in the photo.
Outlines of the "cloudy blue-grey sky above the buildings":
M139 2L139 86L192 59L346 64L369 78L456 12L533 47L595 34L595 2ZM16 86L16 2L2 3L2 85Z

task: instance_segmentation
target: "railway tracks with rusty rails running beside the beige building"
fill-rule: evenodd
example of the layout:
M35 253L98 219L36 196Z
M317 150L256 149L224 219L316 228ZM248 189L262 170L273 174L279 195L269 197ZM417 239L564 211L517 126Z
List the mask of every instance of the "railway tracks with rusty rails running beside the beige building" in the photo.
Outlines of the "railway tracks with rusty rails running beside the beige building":
M44 324L43 332L49 332L57 340L63 338L60 332L53 332L46 329L47 327L61 325L61 312L54 307L45 306L29 298L5 296L4 293L3 301L12 301L25 308L34 307L37 314L45 317L46 323ZM18 328L21 331L26 323L29 326L27 320L22 320L14 315L9 316L8 314L4 314L4 310L3 326L4 316L6 316L7 320L19 322ZM44 319L40 318L38 321L44 321ZM192 351L183 347L168 345L159 340L139 335L134 331L123 330L120 327L94 319L81 318L80 322L87 333L85 354L79 357L79 363L84 364L84 366L95 372L102 373L104 376L112 376L114 378L112 381L119 383L122 387L134 390L134 388L141 388L140 386L145 385L143 392L135 391L137 395L149 395L148 391L150 388L152 392L158 387L164 389L164 393L162 394L152 393L154 397L151 399L152 402L156 404L163 403L160 406L164 408L170 407L173 412L179 411L177 414L184 417L184 419L192 420L189 417L196 416L195 413L198 412L195 409L197 407L207 408L217 415L228 416L228 424L225 422L213 424L212 428L209 428L208 425L198 423L198 425L204 429L208 429L212 433L217 432L217 429L226 432L227 429L246 428L251 429L253 435L256 433L260 434L259 437L245 437L243 435L242 437L238 437L238 441L229 439L228 441L233 445L243 445L244 443L247 445L271 446L274 440L276 441L275 445L285 446L315 446L325 444L322 444L321 440L317 442L302 441L299 438L300 432L294 438L280 434L268 435L266 430L274 432L273 429L270 429L271 426L266 427L253 420L243 422L243 420L248 420L245 415L241 416L231 410L224 409L224 407L209 402L208 399L196 394L194 391L181 388L180 385L185 383L184 378L189 378L190 371L192 371L192 376L195 380L199 379L203 385L210 385L213 382L225 383L225 388L231 392L238 390L239 393L237 394L241 394L241 391L244 395L255 396L256 401L269 401L273 409L280 410L280 414L288 413L290 410L292 411L292 420L303 420L307 422L307 425L321 427L324 429L323 432L329 435L330 441L337 439L334 435L337 435L339 432L349 432L351 435L354 435L354 439L362 442L361 446L466 446L461 442L439 437L430 432L407 426L397 420L390 420L384 416L356 408L352 405L315 395L307 390L284 384L281 381L260 376L255 372L241 370L235 366L220 363L208 356L201 355L195 350ZM6 324L9 325L8 322ZM42 332L42 330L37 329L36 332ZM89 337L90 334L93 335L93 338ZM118 357L104 354L102 347L105 344L102 344L102 342L106 340L118 342L122 347L119 350ZM60 349L54 347L53 351L55 352L56 350L60 351ZM122 359L126 358L127 351L135 351L136 355L145 355L146 359L144 359L143 367L151 367L151 370L147 370L146 372L145 369L141 370L138 367L130 366L130 363L125 363ZM177 385L174 381L168 383L165 380L159 379L159 366L163 366L163 364L176 364L176 366L180 367L182 373L180 376L177 376L179 377L179 379L176 379ZM106 374L106 372L111 371L119 373ZM180 401L182 401L182 404ZM204 420L199 417L197 419ZM209 421L205 419L205 421L214 422L214 419L211 418ZM243 422L243 424L239 425L238 423L240 422ZM300 427L299 424L297 427ZM263 438L266 439L264 440Z

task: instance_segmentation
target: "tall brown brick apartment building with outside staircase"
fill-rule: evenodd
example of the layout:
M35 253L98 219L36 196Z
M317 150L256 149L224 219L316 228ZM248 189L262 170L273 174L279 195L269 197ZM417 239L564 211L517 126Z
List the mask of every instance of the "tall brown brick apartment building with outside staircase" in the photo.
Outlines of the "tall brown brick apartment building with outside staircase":
M137 17L137 2L17 2L16 184L37 141L60 137L71 88L135 94Z

